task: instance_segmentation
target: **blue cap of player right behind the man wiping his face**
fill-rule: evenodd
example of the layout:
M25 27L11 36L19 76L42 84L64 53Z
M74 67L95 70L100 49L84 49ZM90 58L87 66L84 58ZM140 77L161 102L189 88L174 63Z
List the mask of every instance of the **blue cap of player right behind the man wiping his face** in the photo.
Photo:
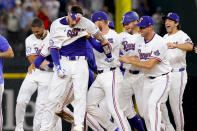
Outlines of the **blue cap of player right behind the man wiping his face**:
M98 21L98 20L108 20L108 16L103 11L97 11L92 15L92 22Z

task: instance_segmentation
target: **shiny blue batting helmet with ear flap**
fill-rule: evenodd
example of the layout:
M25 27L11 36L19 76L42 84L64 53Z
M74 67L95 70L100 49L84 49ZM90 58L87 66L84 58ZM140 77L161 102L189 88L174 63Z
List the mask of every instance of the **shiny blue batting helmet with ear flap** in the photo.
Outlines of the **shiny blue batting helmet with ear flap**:
M123 16L122 16L122 21L121 23L129 23L129 22L132 22L134 20L137 20L139 21L139 16L138 14L135 12L135 11L129 11L127 13L125 13Z

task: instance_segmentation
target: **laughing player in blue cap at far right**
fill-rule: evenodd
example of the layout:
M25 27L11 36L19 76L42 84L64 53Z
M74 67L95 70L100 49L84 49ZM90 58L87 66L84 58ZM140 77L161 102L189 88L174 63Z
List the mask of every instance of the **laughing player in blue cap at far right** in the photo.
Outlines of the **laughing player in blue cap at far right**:
M186 52L192 51L193 43L190 37L180 30L180 18L176 13L168 13L165 17L165 27L167 34L164 39L167 41L167 59L172 66L172 83L169 91L169 102L176 124L176 131L184 131L184 115L182 109L182 99L187 83L186 72ZM162 121L167 130L173 131L170 123L167 107L162 104Z

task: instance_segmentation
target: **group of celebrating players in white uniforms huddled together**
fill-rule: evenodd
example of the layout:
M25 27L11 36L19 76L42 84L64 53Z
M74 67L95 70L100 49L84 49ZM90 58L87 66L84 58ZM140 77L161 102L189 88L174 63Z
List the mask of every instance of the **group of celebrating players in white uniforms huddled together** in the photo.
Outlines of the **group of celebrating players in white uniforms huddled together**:
M193 43L176 13L164 21L167 34L161 37L150 16L134 11L122 16L120 34L106 13L89 20L79 6L53 21L50 32L35 18L25 41L31 65L17 98L15 131L24 131L26 105L36 90L33 131L67 131L61 118L72 131L184 131L185 57Z

